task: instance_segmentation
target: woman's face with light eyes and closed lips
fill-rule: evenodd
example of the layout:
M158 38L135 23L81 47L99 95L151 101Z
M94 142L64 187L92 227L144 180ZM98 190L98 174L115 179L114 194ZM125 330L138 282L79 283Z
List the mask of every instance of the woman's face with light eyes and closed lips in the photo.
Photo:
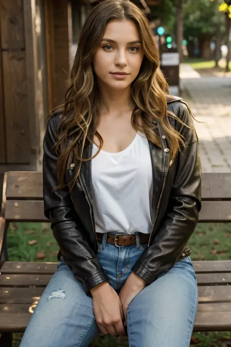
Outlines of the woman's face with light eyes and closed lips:
M98 83L111 89L125 89L138 75L142 60L143 51L135 24L131 20L108 23L93 57Z

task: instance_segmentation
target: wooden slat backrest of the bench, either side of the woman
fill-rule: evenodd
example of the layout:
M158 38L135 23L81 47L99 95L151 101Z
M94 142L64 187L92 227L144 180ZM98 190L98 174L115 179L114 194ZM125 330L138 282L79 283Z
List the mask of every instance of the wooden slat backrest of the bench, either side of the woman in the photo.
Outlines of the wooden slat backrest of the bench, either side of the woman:
M3 185L6 221L48 221L43 213L41 172L10 171ZM231 222L231 173L202 174L199 222Z

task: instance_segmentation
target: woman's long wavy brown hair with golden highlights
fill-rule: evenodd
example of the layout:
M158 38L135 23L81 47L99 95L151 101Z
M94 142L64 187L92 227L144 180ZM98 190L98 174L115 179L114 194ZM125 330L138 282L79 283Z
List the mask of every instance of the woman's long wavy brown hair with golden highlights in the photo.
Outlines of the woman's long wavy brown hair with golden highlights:
M57 129L58 142L55 146L56 150L59 150L56 167L59 188L65 185L65 170L71 152L77 158L74 186L81 163L95 158L103 146L103 139L96 130L100 108L92 57L100 45L106 25L111 20L132 20L138 29L143 48L142 65L131 85L131 98L135 102L131 119L133 127L144 132L149 141L161 147L160 137L158 132L154 131L153 123L154 120L159 121L171 150L171 159L176 156L181 145L184 146L183 138L169 122L168 116L177 117L167 110L168 84L160 69L159 53L148 20L129 0L104 0L97 4L86 18L71 70L70 86L65 94L65 103L60 109L63 117ZM55 110L57 111L57 108ZM141 123L138 122L138 115L141 115ZM99 150L95 156L83 159L84 146L94 143L94 135L99 139ZM61 143L68 143L68 146L64 146L60 151Z

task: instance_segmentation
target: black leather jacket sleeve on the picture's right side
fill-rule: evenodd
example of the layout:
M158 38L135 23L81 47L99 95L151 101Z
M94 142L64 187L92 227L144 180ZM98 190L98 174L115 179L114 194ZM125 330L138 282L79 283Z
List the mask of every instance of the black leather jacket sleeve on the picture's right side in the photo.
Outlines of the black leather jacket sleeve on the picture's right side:
M178 153L167 212L150 246L132 269L148 284L175 265L193 234L201 209L201 164L197 136L188 106L180 103L177 111L174 113L193 130L182 125L177 129L185 138L185 147L182 153Z

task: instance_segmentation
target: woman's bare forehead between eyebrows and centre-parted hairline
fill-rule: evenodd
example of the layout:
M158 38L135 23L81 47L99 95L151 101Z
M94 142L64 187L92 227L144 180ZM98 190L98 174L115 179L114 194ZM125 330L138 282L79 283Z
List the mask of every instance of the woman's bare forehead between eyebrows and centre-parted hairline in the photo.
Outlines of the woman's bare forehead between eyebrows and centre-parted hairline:
M140 40L138 29L131 20L112 20L107 24L103 38L116 42Z

